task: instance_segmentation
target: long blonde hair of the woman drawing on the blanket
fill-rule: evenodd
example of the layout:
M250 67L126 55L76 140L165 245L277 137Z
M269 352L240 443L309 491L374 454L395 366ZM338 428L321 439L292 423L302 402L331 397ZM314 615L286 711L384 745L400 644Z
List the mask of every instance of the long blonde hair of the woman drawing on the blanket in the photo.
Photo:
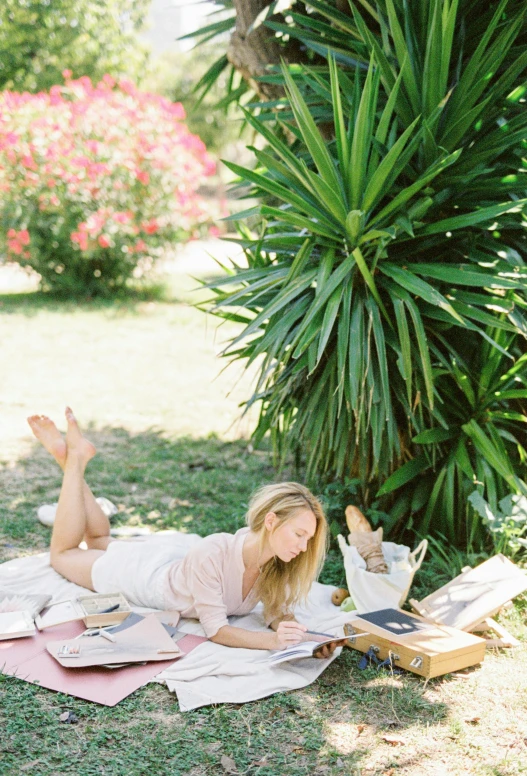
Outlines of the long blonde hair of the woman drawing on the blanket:
M247 510L247 525L260 535L260 550L267 538L265 516L273 512L278 522L273 532L300 512L309 510L316 520L315 534L307 543L305 552L299 553L288 563L274 556L261 569L254 592L264 605L266 620L274 620L292 611L293 606L303 602L312 583L318 577L327 544L327 522L322 504L303 485L297 482L281 482L265 485L251 498Z

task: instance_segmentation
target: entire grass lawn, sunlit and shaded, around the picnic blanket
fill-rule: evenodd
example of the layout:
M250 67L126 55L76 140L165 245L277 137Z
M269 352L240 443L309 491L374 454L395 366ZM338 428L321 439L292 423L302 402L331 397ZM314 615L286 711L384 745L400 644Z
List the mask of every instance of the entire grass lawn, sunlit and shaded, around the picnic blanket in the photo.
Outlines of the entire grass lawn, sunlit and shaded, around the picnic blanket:
M180 267L209 271L197 249ZM72 405L100 451L89 482L119 505L118 524L233 531L251 492L279 476L268 451L248 446L254 416L236 420L250 376L234 388L236 368L218 377L232 329L216 331L189 307L194 283L182 271L169 282L169 301L114 304L0 288L0 560L49 540L35 510L56 500L60 478L26 426L35 412L60 420ZM450 570L425 561L412 594L463 562L455 553ZM341 583L342 573L333 550L323 580ZM159 685L109 709L0 675L0 774L527 773L526 608L523 598L502 617L522 645L488 651L462 676L426 683L360 672L358 653L346 649L305 690L185 714ZM76 724L60 722L65 710Z

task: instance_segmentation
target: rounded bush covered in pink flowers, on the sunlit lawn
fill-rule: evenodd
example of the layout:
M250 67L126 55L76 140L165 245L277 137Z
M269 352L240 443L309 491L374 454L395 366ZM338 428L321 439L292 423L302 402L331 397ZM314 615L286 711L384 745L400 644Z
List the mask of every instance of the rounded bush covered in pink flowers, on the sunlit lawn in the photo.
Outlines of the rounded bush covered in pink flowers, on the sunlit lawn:
M180 103L105 76L0 93L0 239L47 288L123 286L213 220L215 172Z

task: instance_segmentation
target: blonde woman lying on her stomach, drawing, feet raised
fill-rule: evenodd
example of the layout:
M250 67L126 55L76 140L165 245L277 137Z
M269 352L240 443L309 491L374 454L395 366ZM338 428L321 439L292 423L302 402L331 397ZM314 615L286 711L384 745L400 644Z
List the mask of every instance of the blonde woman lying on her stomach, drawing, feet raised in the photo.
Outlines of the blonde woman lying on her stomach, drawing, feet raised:
M326 518L307 488L294 482L261 488L249 505L248 527L234 535L212 534L194 543L184 534L116 541L84 481L95 447L69 408L66 420L64 439L49 418L28 418L64 471L50 548L59 574L97 593L121 591L138 606L198 617L208 638L228 647L283 649L313 639L288 614L305 599L325 554ZM79 548L83 540L86 550ZM229 615L248 614L258 601L273 632L228 624ZM334 649L324 646L319 656Z

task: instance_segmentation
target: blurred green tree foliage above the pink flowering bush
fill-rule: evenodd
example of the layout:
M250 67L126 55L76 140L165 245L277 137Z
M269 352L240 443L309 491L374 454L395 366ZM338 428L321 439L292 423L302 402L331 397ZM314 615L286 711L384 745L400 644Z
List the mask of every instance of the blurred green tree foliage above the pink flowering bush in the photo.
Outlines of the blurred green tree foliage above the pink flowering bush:
M3 0L0 89L46 91L73 77L135 77L147 47L138 33L149 0Z

